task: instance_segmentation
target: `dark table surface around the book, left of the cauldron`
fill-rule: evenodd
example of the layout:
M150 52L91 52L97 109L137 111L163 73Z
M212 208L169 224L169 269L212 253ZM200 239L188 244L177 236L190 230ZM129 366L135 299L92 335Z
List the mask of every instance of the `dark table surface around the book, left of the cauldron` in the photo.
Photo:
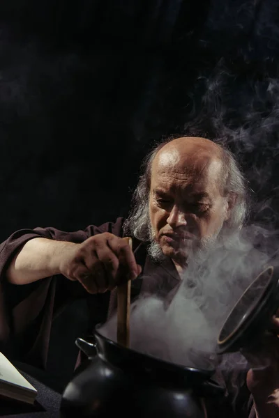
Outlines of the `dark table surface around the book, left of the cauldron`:
M15 364L15 363L14 363ZM0 400L0 417L7 418L59 418L61 389L54 389L54 379L27 364L15 364L17 369L38 391L33 405L17 401Z

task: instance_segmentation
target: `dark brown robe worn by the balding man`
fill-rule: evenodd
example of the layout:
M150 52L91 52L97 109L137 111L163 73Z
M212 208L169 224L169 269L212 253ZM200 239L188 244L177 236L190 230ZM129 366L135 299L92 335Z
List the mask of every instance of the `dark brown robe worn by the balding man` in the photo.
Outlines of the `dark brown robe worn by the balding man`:
M54 240L83 242L98 233L110 232L123 236L123 218L101 226L88 226L84 231L63 232L54 228L22 229L10 235L0 246L0 350L10 358L27 362L45 369L49 352L52 323L68 304L77 299L86 299L89 314L89 332L94 325L103 323L116 308L115 293L89 295L74 281L61 274L47 277L27 285L8 284L6 267L17 251L28 240L44 237ZM140 291L166 296L179 286L179 274L170 259L153 263L146 254L144 243L133 240L133 251L138 264L142 265L142 277L133 281L131 296ZM234 356L234 355L232 355ZM231 357L232 357L231 356ZM232 371L218 369L216 380L226 388L222 399L213 399L209 405L213 417L252 418L255 412L246 387L247 367L236 366ZM234 357L230 359L230 364ZM220 412L218 412L220 410ZM209 417L211 417L209 412Z

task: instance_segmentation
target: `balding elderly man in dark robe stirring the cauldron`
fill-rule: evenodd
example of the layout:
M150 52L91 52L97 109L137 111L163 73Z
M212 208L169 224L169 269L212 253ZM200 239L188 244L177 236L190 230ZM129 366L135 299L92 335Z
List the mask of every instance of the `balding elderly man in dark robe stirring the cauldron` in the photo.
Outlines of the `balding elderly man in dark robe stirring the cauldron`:
M92 329L114 311L113 289L123 279L133 280L133 297L144 290L164 297L179 285L191 257L211 247L224 231L240 229L245 217L246 189L229 151L203 138L160 144L146 158L125 221L118 218L73 233L23 229L3 242L3 349L17 344L24 361L45 365L52 318L69 301L89 300ZM125 235L133 237L133 249L122 240ZM271 340L273 364L276 343ZM269 403L279 387L273 370L249 371L255 406L241 405L237 412L233 405L236 417L256 417L255 409L258 418L279 416Z

